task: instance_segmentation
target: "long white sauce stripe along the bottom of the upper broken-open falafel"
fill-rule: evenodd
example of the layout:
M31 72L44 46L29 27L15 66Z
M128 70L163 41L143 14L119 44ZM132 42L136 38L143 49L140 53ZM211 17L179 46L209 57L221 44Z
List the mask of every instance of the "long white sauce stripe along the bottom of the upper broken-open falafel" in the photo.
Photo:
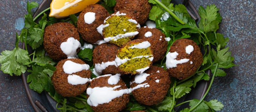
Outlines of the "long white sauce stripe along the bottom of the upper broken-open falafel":
M126 37L131 37L131 36L136 36L137 34L139 34L138 31L135 31L135 32L128 32L128 33L125 33L125 34L118 34L117 36L109 36L107 38L104 38L104 40L106 42L109 42L109 41L117 41L118 39L121 39L121 38L126 38Z

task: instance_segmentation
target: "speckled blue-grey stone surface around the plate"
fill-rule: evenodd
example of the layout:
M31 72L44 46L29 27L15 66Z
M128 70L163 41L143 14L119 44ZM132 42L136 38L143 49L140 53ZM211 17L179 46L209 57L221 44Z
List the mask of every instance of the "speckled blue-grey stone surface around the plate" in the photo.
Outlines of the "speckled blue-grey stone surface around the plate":
M33 1L33 0L28 0ZM34 0L41 3L42 0ZM1 0L0 52L12 50L15 32L24 25L27 0ZM229 37L228 46L238 66L226 69L227 76L216 77L205 100L217 99L223 112L256 111L256 1L255 0L191 0L198 8L216 4L223 17L218 32ZM21 44L20 44L21 45ZM0 71L0 112L34 111L27 98L21 76Z

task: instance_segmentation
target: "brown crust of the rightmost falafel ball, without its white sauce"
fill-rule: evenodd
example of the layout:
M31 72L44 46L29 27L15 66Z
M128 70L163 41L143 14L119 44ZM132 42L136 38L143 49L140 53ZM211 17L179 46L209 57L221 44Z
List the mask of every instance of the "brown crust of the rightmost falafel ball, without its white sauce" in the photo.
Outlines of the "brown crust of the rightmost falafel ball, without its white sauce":
M190 54L186 53L186 47L188 45L192 45L194 47L194 51ZM172 77L176 77L180 80L195 74L196 70L203 62L203 55L198 45L189 39L176 40L170 47L169 52L177 52L179 54L176 60L189 59L187 63L177 64L177 67L167 69ZM190 64L190 61L193 63Z

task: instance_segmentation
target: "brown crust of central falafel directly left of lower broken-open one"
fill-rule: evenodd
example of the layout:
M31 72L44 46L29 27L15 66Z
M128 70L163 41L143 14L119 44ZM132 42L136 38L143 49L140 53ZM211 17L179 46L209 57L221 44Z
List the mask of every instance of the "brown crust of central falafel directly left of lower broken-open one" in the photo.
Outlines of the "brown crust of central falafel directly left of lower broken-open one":
M93 64L114 61L116 59L117 50L120 49L118 46L113 44L100 44L94 48L92 52L92 60ZM106 69L102 70L102 74L124 74L121 70L119 70L115 65L108 66Z

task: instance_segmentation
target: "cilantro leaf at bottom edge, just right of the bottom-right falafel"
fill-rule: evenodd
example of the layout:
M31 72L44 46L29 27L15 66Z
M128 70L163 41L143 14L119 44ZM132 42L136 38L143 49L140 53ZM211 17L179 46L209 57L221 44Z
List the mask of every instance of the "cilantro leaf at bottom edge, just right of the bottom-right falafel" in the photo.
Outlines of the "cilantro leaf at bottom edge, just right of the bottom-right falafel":
M156 108L159 111L166 111L172 108L172 103L175 103L175 101L173 102L172 97L165 97L162 102L156 104Z

